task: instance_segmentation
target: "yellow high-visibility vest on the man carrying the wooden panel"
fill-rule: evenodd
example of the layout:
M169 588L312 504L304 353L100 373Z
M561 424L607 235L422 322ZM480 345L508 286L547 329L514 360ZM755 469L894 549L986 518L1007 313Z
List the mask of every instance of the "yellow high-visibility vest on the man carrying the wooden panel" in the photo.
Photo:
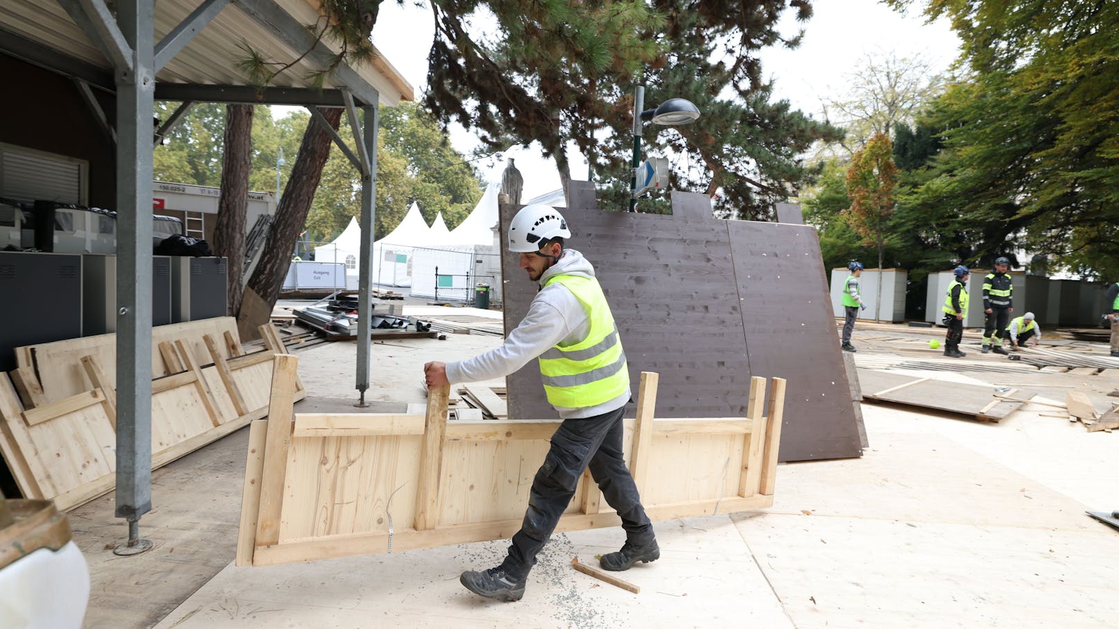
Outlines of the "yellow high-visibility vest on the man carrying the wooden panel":
M563 284L586 311L591 329L583 340L556 345L540 358L540 375L548 403L583 409L609 402L629 391L626 353L602 287L593 278L554 275L544 284Z

